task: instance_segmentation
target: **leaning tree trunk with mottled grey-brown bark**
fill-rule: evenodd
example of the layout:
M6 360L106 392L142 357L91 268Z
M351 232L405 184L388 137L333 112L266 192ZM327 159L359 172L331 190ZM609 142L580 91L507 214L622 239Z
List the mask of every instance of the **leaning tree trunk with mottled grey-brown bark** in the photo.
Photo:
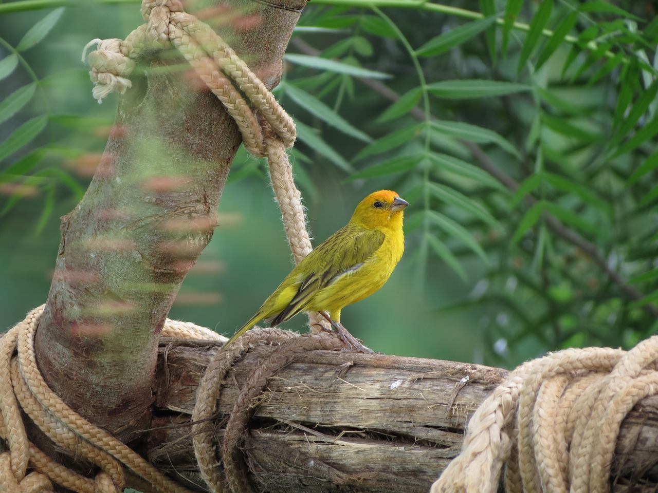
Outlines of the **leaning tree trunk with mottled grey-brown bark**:
M301 9L305 0L282 1ZM268 85L299 12L228 0L199 12ZM137 26L135 26L137 27ZM147 427L159 331L216 225L240 134L174 50L138 60L105 154L62 239L36 350L72 408L124 440ZM91 86L90 86L91 87ZM89 94L89 97L91 95Z

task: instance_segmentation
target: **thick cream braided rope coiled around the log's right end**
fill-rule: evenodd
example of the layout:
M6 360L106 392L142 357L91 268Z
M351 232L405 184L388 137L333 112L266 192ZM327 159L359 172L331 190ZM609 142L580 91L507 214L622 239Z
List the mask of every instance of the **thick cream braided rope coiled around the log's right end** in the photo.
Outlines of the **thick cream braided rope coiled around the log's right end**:
M658 392L658 336L625 352L567 349L521 365L480 405L431 493L609 491L626 413Z

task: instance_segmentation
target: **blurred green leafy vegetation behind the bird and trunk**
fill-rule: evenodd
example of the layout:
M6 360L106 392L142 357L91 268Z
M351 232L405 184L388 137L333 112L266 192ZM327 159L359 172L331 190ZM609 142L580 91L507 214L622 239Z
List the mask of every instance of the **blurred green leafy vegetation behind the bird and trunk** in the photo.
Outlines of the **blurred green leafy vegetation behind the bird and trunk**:
M5 326L45 301L58 218L113 122L82 47L142 22L134 2L40 5L0 4ZM313 0L293 35L276 94L316 239L375 189L411 204L401 264L343 323L375 350L506 367L632 346L658 317L655 4L474 5ZM241 151L170 316L230 334L289 259L265 164Z

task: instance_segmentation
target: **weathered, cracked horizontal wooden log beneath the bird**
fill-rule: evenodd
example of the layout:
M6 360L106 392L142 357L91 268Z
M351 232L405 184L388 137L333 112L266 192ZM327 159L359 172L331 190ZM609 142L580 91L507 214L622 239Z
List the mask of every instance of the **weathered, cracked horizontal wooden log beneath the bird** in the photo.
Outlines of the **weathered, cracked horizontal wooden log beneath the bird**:
M163 340L148 456L179 481L204 490L191 427L196 389L213 342ZM253 348L222 385L222 440L239 388L271 346ZM476 364L383 354L311 351L270 379L241 446L256 491L427 492L457 456L468 419L507 375ZM468 381L463 379L468 377ZM613 463L613 491L655 488L658 398L626 417ZM630 488L630 489L629 489Z

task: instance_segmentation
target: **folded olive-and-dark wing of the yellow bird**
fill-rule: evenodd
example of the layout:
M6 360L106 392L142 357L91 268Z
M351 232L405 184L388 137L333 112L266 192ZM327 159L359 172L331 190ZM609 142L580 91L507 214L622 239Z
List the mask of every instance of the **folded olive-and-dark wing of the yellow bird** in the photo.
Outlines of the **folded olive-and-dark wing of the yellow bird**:
M378 229L363 229L347 225L328 237L291 272L296 273L299 289L288 306L267 321L278 325L303 312L315 293L353 273L384 243L384 233Z

